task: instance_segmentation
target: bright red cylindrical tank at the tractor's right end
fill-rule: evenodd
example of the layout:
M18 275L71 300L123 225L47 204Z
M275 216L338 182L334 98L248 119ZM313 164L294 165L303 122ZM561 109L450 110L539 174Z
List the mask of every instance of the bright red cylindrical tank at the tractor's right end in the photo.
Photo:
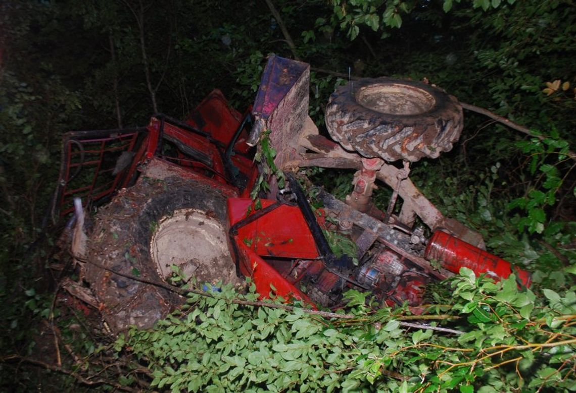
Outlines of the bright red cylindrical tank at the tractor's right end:
M424 257L429 261L441 262L442 266L450 272L458 273L460 268L468 268L472 269L476 275L486 273L488 277L496 281L514 273L518 283L526 287L530 286L530 273L526 270L512 266L510 262L480 250L446 232L434 232L426 247Z

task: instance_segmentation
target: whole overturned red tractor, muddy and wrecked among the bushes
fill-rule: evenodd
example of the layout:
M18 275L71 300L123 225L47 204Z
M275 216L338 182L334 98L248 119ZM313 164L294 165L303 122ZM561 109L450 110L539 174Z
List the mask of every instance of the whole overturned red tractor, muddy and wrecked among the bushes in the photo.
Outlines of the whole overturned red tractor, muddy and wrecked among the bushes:
M484 251L482 236L445 218L408 177L411 162L438 157L460 136L456 98L399 79L349 82L328 104L331 140L308 116L308 91L308 64L271 56L244 116L215 91L185 123L155 116L142 129L66 135L55 211L71 212L73 197L85 206L111 199L82 228L81 259L112 330L150 327L177 307L179 296L150 284L173 272L209 285L248 276L263 297L331 308L348 288L419 306L427 283L461 267L495 280L514 273L529 285L528 273ZM263 140L281 181L255 165ZM297 169L310 166L358 170L346 203L301 189ZM271 187L255 203L259 177ZM371 201L376 180L392 189L386 211ZM310 197L323 207L315 211ZM326 234L354 243L355 255L336 255Z

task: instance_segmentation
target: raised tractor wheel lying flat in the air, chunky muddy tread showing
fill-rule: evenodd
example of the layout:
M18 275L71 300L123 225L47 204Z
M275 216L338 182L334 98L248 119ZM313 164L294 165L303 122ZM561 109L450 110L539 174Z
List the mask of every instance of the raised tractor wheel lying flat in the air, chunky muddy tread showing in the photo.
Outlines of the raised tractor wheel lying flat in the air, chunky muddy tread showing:
M463 114L456 98L425 83L361 79L332 94L326 126L342 147L364 157L415 162L451 150Z

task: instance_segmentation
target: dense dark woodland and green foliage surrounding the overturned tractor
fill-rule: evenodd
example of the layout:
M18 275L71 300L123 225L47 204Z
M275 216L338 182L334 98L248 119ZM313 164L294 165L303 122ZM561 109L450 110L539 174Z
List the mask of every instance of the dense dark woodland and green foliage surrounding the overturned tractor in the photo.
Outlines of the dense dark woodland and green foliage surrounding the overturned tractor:
M575 19L573 0L0 3L0 389L41 387L51 366L53 379L70 375L56 386L73 390L574 390ZM467 110L460 143L413 165L411 178L532 271L532 292L469 272L449 284L456 296L431 290L438 306L427 315L464 332L453 334L409 329L406 310L373 312L358 293L348 295L349 320L242 306L224 291L191 296L189 312L153 332L132 331L116 343L120 357L98 348L109 338L57 300L59 279L74 271L54 252L59 228L47 214L60 136L143 125L156 110L183 117L216 87L244 110L269 52L311 64L320 127L335 86L380 75L426 78L525 125ZM348 192L350 173L318 171L310 175L334 194ZM389 190L374 197L385 205Z

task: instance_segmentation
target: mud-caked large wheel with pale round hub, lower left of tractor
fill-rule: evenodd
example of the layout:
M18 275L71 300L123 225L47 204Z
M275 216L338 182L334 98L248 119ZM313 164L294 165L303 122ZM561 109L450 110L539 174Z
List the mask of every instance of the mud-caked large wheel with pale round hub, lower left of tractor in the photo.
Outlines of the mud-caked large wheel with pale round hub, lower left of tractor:
M102 208L89 238L84 276L110 329L120 332L130 325L148 329L184 299L97 265L162 282L174 264L199 283L239 284L225 222L226 196L179 177L141 176Z

